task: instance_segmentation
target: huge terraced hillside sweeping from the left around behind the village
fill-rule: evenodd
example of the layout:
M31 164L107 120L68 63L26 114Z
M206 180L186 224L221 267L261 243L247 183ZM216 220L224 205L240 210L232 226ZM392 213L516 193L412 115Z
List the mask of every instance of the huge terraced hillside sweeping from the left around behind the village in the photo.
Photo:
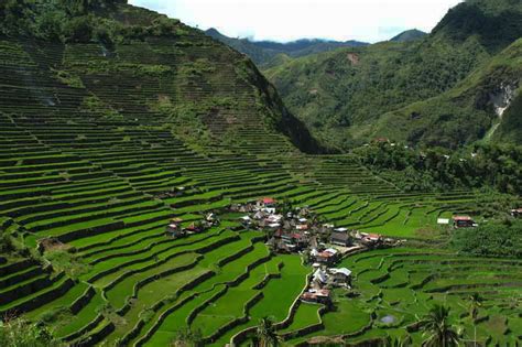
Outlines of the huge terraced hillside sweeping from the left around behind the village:
M313 139L253 65L181 24L111 48L2 37L0 89L0 227L43 252L0 258L0 313L72 345L161 346L183 327L224 345L264 315L295 328L312 271L300 257L272 254L233 214L182 239L165 236L173 217L270 195L337 226L431 238L438 216L487 203L406 194L348 154L303 153Z

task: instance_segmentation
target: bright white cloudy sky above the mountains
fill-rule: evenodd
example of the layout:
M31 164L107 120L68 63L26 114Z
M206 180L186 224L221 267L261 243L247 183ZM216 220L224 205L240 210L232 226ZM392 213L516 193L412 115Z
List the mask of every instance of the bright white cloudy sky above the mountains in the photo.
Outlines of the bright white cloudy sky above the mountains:
M429 32L461 0L129 0L231 37L388 40L406 29Z

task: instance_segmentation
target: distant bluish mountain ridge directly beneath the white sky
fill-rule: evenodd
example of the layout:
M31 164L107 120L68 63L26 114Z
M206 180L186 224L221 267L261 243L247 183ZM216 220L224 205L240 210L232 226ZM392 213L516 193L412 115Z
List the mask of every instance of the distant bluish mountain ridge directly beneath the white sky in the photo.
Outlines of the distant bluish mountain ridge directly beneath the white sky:
M228 37L214 28L207 30L206 34L221 41L222 43L241 53L247 54L260 67L274 65L273 61L279 59L280 55L301 57L320 52L329 52L339 47L358 47L368 45L368 43L359 41L339 42L319 39L303 39L287 43L273 41L251 41L250 39Z

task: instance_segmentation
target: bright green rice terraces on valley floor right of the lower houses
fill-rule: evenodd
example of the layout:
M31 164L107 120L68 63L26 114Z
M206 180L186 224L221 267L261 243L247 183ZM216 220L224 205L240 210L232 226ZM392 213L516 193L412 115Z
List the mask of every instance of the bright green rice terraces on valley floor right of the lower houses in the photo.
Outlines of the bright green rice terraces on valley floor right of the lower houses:
M450 319L470 337L468 343L477 336L481 345L516 346L522 338L520 260L398 248L354 256L341 265L354 270L352 283L360 296L348 299L339 291L337 311L322 315L317 314L320 306L301 305L293 323L280 333L284 339L297 345L316 334L349 343L410 335L420 346L425 336L415 323L433 303L452 307ZM470 313L474 294L481 297L476 318Z

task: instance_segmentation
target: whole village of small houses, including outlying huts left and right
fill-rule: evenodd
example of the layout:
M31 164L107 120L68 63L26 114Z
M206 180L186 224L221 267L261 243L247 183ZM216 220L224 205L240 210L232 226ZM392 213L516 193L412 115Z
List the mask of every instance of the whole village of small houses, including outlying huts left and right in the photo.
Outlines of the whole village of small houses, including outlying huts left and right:
M513 210L514 214L516 210ZM401 240L385 238L379 234L361 232L345 227L336 227L317 216L313 210L294 207L289 202L278 202L271 197L244 204L232 204L222 213L239 215L238 229L257 229L265 232L267 246L274 253L296 253L314 272L309 285L301 300L312 303L330 304L330 290L345 288L351 290L351 270L337 268L344 258L370 249L400 245ZM166 227L170 237L184 237L219 226L220 212L208 213L195 223L182 227L183 219L174 218ZM438 225L454 228L477 227L469 216L454 216L452 219L438 218Z

